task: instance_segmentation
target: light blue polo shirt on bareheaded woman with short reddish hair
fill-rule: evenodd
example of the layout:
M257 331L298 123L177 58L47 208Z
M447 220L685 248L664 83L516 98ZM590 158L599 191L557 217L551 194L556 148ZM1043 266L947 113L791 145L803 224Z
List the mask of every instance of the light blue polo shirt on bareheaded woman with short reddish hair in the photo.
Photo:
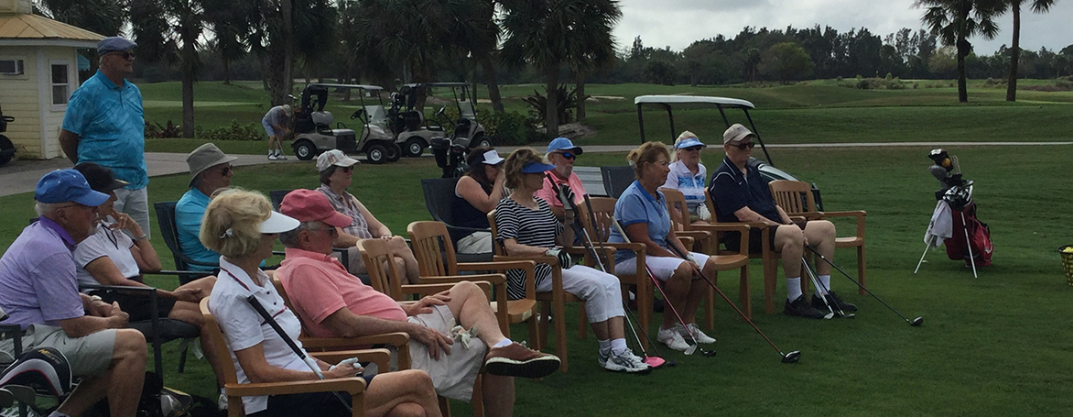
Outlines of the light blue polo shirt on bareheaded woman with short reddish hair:
M615 219L622 224L623 229L631 224L648 223L648 238L656 244L666 248L666 237L671 233L671 214L667 213L666 197L659 191L656 194L657 197L652 197L641 187L641 182L634 180L615 203ZM617 229L612 228L607 241L622 243L626 239ZM633 251L620 250L615 253L615 263L633 256L636 256Z

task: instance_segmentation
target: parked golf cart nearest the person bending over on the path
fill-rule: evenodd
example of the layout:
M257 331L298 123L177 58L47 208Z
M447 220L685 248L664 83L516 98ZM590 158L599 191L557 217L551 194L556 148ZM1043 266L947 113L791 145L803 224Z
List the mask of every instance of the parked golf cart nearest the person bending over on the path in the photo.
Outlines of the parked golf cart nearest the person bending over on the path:
M357 90L362 107L350 118L362 121L361 136L342 122L335 122L332 113L324 110L329 89ZM352 84L314 83L306 86L302 91L302 107L294 114L294 140L291 143L294 154L308 161L327 150L339 149L344 153L365 153L373 164L398 161L402 149L395 144L395 135L388 128L381 90L383 88L377 86ZM379 104L367 105L366 92L376 93ZM333 122L336 123L335 129Z

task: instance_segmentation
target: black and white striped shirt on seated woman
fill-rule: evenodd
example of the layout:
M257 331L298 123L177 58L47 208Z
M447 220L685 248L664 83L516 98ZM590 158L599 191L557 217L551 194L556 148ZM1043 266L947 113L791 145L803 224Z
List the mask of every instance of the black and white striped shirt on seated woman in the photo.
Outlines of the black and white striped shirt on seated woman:
M497 244L503 244L506 239L515 239L518 243L554 248L556 238L562 234L562 223L556 219L547 202L536 197L539 208L533 210L519 205L511 197L499 200L496 205ZM552 277L552 267L547 264L536 264L536 284ZM526 297L526 271L512 269L506 272L506 295L512 300Z

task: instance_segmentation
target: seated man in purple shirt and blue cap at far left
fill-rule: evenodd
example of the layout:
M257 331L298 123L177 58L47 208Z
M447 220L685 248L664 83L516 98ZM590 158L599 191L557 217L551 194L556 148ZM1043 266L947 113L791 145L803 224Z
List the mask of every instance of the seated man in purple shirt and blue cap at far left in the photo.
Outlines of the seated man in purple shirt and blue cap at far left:
M82 383L49 417L78 416L107 397L113 416L133 416L145 374L145 337L124 329L118 303L78 293L72 251L93 233L97 207L108 195L89 188L74 169L46 174L33 198L40 219L0 258L0 308L5 324L25 330L25 349L53 347ZM12 353L13 341L0 341Z

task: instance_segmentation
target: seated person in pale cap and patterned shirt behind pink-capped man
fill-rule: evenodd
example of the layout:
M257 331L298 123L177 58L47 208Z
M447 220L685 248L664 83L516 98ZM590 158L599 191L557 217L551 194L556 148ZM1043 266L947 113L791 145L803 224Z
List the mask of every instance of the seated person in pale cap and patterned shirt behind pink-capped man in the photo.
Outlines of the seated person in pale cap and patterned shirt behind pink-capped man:
M328 202L332 202L332 207L335 207L336 211L353 219L350 226L338 230L339 235L336 237L335 247L348 249L350 272L357 274L367 271L365 259L362 258L362 253L357 250L357 241L362 239L387 240L391 242L396 265L398 265L399 270L406 271L406 282L402 284L417 283L420 279L417 258L413 256L406 240L400 236L392 235L392 230L380 223L362 202L347 192L356 164L357 160L347 157L338 149L321 153L317 158L317 169L321 173L321 187L317 191L328 197Z

